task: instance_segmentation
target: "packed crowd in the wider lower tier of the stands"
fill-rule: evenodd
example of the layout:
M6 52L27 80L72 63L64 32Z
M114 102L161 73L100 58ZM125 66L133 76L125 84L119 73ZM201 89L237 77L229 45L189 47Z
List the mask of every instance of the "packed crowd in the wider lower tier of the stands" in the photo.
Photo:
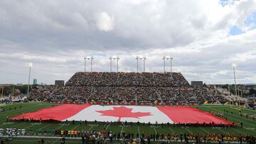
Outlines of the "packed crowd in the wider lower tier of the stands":
M213 100L205 87L58 87L32 89L29 99L40 101L164 101L187 103ZM224 101L224 97L223 97Z

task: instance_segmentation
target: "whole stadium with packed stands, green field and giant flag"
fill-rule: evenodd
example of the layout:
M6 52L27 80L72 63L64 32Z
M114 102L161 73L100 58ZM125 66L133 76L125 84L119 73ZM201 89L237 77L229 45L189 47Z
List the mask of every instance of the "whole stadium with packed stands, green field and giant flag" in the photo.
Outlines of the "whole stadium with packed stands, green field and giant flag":
M4 106L1 135L13 143L255 143L255 110L209 92L179 72L76 72L65 86L33 86L31 102Z

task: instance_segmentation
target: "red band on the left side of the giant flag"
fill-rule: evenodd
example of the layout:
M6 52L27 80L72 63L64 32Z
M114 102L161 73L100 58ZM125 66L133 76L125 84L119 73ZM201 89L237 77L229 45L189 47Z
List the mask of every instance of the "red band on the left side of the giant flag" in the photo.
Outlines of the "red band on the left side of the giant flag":
M82 104L82 105L76 105L76 104L63 104L60 106L53 106L46 109L40 109L36 112L31 113L24 113L19 116L14 116L11 119L33 119L33 120L57 120L62 121L66 118L69 118L70 116L74 116L79 111L82 111L82 109L86 109L87 107L91 106L90 104Z

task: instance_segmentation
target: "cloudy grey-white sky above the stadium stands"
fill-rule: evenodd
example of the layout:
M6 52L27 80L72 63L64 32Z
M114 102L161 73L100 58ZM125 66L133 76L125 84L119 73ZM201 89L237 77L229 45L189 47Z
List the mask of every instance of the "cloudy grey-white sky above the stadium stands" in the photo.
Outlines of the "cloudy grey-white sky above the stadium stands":
M0 1L0 84L27 83L29 62L32 79L67 81L86 56L93 71L119 56L119 71L136 72L137 55L147 72L174 57L174 72L207 84L233 83L235 62L238 83L256 83L256 0Z

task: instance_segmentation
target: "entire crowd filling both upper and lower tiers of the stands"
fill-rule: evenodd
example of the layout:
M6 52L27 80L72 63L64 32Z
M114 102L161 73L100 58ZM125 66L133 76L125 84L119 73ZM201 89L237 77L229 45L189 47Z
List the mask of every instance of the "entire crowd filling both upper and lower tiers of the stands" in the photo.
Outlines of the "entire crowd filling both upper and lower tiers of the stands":
M207 87L192 87L181 73L77 72L65 86L39 86L28 99L38 101L225 101Z

